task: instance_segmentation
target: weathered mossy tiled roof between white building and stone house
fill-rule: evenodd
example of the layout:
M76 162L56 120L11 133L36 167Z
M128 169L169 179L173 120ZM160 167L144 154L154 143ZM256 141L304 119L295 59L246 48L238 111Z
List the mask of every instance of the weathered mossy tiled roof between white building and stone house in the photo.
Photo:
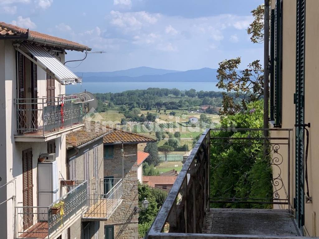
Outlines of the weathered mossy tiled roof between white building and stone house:
M85 122L82 129L66 135L66 148L78 147L110 132L112 132L112 128L102 126L100 123Z

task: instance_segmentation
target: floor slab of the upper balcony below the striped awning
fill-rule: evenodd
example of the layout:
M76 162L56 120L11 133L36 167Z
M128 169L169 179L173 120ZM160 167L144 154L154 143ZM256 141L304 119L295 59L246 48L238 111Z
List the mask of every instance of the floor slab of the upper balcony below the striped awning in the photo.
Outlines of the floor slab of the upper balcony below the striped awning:
M46 142L52 139L61 137L63 134L70 133L81 129L84 124L74 125L72 127L64 128L56 132L42 135L41 133L31 132L26 134L19 134L14 136L16 142Z

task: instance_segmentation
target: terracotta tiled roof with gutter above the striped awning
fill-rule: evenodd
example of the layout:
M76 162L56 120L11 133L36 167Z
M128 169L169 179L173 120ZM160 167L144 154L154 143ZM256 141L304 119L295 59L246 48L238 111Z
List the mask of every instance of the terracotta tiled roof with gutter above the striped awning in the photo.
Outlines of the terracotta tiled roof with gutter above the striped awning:
M43 44L54 45L56 47L61 46L62 48L70 50L91 50L91 48L74 41L50 36L48 34L39 33L36 31L31 31L26 28L11 25L5 22L0 22L0 39L2 37L5 38L6 36L11 37L10 39L35 41Z

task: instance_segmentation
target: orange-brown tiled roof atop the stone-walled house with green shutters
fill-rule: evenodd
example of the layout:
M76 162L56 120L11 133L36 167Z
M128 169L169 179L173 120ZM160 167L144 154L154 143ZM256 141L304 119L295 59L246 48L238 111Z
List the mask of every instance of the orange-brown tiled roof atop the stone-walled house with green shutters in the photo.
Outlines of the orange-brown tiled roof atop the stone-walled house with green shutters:
M144 135L126 132L118 129L114 129L112 132L103 137L103 143L105 144L144 142L156 142L156 140Z

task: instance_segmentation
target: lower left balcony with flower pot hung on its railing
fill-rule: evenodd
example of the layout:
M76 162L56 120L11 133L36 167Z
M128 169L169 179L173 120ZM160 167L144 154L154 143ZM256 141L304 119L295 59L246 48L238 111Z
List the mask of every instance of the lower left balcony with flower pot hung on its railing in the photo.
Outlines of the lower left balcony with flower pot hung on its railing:
M53 205L58 202L64 206L55 214ZM15 238L56 238L87 210L86 181L49 206L18 206L15 210Z

